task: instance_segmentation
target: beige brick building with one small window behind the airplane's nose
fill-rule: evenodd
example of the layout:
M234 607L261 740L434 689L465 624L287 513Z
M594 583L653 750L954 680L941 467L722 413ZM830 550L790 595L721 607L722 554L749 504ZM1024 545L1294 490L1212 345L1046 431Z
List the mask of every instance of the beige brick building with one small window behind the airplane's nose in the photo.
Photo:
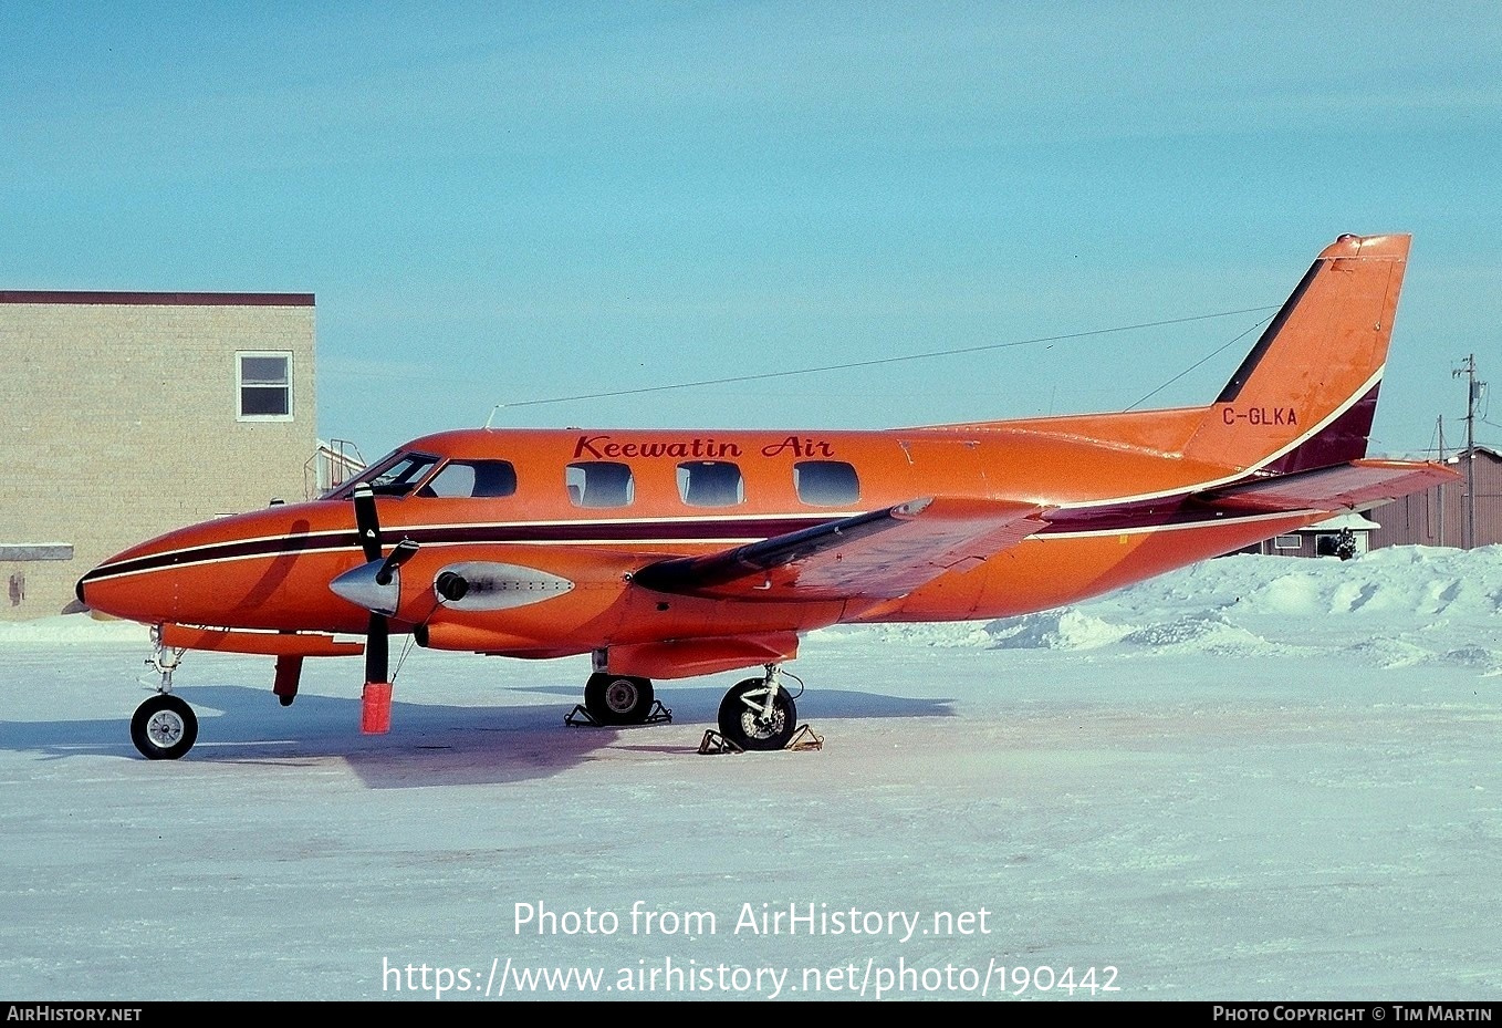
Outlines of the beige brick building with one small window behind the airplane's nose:
M299 500L318 451L309 293L0 292L0 619L101 559Z

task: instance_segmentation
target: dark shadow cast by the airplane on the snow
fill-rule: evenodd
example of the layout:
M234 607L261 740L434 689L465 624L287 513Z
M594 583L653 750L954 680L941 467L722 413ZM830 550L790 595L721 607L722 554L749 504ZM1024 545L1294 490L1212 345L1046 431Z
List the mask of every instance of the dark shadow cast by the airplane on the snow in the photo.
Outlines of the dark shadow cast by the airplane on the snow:
M372 789L490 785L541 779L592 759L620 736L626 748L698 759L704 729L715 726L721 687L668 688L662 700L673 721L637 727L569 727L563 715L578 688L526 687L557 694L557 705L455 706L392 702L388 735L360 735L359 697L302 694L290 709L264 688L197 685L177 690L204 717L189 762L308 766L342 759ZM219 717L212 715L221 712ZM820 735L828 720L954 717L952 700L879 693L811 690L799 723ZM0 750L33 751L56 760L117 754L138 759L117 717L54 721L0 721ZM757 759L746 754L740 759ZM162 762L170 769L170 762Z

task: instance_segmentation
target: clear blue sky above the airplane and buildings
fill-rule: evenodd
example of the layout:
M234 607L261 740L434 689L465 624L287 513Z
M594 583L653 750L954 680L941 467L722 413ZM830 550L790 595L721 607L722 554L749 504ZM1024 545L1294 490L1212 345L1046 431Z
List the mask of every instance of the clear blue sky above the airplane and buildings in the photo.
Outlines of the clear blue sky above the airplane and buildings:
M1275 305L1344 231L1415 234L1376 449L1458 439L1466 353L1502 382L1496 3L18 2L0 39L0 289L315 293L320 434L366 457ZM1260 317L496 424L1122 409Z

